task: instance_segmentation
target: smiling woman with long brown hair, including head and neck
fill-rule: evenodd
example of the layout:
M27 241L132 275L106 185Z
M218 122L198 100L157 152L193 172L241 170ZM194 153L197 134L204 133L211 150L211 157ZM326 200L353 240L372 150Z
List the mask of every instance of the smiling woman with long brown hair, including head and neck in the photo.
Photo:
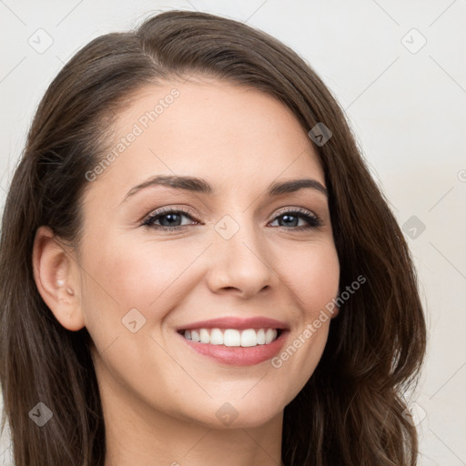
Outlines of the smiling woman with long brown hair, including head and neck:
M409 250L339 105L269 35L171 11L80 50L0 265L16 466L416 464Z

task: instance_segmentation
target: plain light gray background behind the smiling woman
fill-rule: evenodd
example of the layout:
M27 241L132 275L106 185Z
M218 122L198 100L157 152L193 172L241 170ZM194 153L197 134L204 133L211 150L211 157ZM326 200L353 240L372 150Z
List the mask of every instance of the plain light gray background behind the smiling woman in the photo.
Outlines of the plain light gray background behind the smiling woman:
M400 224L416 217L406 235L430 334L411 395L420 465L466 465L465 0L0 0L1 205L35 107L64 63L97 35L173 8L239 19L295 49L339 99ZM4 437L1 464L8 445Z

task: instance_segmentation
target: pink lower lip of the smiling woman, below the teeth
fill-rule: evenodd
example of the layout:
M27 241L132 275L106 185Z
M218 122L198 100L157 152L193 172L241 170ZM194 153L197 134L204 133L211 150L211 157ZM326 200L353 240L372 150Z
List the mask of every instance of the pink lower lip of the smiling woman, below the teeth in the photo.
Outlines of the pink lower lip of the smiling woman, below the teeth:
M211 345L210 343L199 343L192 339L185 339L179 333L177 335L184 339L190 348L198 351L199 354L208 356L222 364L228 366L254 366L276 356L283 347L288 333L288 330L282 330L279 338L274 339L271 343L249 347Z

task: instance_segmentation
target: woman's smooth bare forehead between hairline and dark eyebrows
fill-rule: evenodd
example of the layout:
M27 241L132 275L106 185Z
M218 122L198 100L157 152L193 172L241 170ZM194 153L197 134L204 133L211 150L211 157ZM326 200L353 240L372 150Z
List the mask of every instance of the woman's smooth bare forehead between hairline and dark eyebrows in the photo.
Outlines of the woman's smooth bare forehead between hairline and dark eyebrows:
M186 175L242 189L309 175L324 183L306 131L257 89L202 79L146 86L117 118L96 185L127 190L150 175ZM96 186L97 188L97 186Z

